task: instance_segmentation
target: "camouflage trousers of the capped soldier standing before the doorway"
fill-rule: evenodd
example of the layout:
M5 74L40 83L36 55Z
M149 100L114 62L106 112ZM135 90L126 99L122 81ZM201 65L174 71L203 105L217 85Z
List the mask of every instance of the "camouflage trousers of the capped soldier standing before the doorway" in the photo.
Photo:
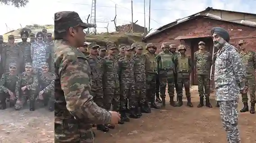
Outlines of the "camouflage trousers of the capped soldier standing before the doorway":
M199 97L210 97L210 76L198 75L198 93Z

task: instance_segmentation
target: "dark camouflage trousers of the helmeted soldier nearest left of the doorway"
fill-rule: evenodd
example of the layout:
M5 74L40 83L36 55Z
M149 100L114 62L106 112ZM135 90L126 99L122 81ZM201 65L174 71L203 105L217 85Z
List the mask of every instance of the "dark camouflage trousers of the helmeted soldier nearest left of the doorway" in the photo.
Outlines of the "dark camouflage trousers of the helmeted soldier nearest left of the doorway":
M178 73L178 92L177 96L182 97L183 96L183 87L185 88L186 97L191 97L190 93L190 74L189 73Z

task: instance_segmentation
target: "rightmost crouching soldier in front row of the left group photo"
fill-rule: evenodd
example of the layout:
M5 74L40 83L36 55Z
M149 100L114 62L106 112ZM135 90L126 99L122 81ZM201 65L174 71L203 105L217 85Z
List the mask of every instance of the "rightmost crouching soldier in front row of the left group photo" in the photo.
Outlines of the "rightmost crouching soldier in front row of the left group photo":
M43 100L45 106L48 105L50 112L54 111L54 73L49 72L49 64L42 63L42 74L39 76L39 99Z

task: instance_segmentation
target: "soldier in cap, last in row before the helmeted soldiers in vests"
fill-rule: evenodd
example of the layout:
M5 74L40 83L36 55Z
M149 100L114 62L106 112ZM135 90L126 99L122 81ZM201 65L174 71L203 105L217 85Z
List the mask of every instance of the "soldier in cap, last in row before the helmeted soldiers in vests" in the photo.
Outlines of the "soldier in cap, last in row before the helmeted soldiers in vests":
M138 110L138 116L142 116L141 113L151 112L148 106L148 100L146 100L146 56L142 54L143 47L140 45L135 46L135 51L135 95L138 99L138 106L140 107L140 110L139 107L136 107L136 109Z

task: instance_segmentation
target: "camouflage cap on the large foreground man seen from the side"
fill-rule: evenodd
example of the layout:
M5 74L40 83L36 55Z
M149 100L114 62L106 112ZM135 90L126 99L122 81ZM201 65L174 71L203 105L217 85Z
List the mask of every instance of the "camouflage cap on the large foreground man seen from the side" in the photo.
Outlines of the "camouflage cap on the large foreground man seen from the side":
M63 33L70 27L81 26L85 28L96 27L89 23L84 23L78 13L62 11L54 13L54 32Z

